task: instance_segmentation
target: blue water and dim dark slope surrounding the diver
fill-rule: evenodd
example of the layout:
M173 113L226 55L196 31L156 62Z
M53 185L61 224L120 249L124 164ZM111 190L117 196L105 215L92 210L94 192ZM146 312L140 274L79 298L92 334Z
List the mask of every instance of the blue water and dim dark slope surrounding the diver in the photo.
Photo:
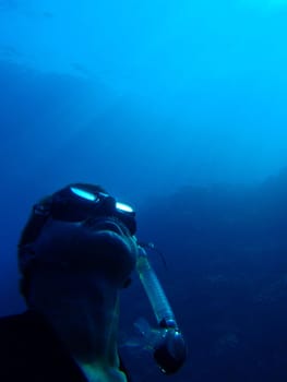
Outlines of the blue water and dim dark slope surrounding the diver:
M74 182L137 211L186 336L162 375L136 274L120 345L133 381L287 380L287 1L0 0L0 314L23 311L31 206Z

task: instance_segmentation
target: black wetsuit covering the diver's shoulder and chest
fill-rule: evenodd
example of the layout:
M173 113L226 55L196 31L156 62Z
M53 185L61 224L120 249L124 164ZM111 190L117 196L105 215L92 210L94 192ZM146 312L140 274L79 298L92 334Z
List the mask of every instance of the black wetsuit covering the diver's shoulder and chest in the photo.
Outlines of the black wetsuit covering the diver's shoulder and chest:
M122 362L120 369L127 374ZM87 382L52 327L35 312L0 319L1 382Z

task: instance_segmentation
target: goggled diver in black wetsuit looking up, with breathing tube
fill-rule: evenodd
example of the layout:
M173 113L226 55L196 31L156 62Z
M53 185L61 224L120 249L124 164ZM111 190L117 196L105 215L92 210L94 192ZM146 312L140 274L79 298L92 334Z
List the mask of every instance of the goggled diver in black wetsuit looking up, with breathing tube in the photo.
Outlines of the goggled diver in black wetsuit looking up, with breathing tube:
M33 206L19 242L27 310L0 319L0 381L131 381L118 351L119 294L139 259L154 309L163 300L152 296L156 278L135 232L133 208L100 186L69 184ZM167 301L160 306L169 317L160 319L154 358L172 373L186 345Z

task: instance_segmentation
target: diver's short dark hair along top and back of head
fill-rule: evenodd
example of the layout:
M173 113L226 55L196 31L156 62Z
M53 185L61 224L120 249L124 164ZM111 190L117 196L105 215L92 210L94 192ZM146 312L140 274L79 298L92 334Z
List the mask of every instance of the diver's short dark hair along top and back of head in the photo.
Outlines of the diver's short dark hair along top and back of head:
M98 184L91 183L71 183L67 187L79 187L91 192L105 192L107 191ZM64 188L67 188L64 187ZM63 189L64 189L63 188ZM63 189L56 191L53 194L43 198L36 205L43 208L43 211L48 211L49 206L52 204L52 199L55 194L62 191ZM26 225L24 226L19 244L17 244L17 263L21 273L20 278L20 293L27 302L29 294L31 278L33 275L34 265L36 263L36 253L33 250L33 243L37 240L40 235L41 229L47 220L49 213L45 215L35 213L35 205L32 208L32 213L28 217Z

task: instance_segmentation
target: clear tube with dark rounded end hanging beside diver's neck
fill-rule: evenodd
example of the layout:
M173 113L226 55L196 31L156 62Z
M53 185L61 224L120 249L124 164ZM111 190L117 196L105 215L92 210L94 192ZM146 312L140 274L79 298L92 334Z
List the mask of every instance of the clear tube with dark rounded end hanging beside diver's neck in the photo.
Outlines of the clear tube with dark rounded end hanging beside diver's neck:
M136 270L159 326L158 335L153 344L153 356L163 373L172 374L186 361L186 343L166 295L147 259L147 253L144 247L139 243L137 246Z

